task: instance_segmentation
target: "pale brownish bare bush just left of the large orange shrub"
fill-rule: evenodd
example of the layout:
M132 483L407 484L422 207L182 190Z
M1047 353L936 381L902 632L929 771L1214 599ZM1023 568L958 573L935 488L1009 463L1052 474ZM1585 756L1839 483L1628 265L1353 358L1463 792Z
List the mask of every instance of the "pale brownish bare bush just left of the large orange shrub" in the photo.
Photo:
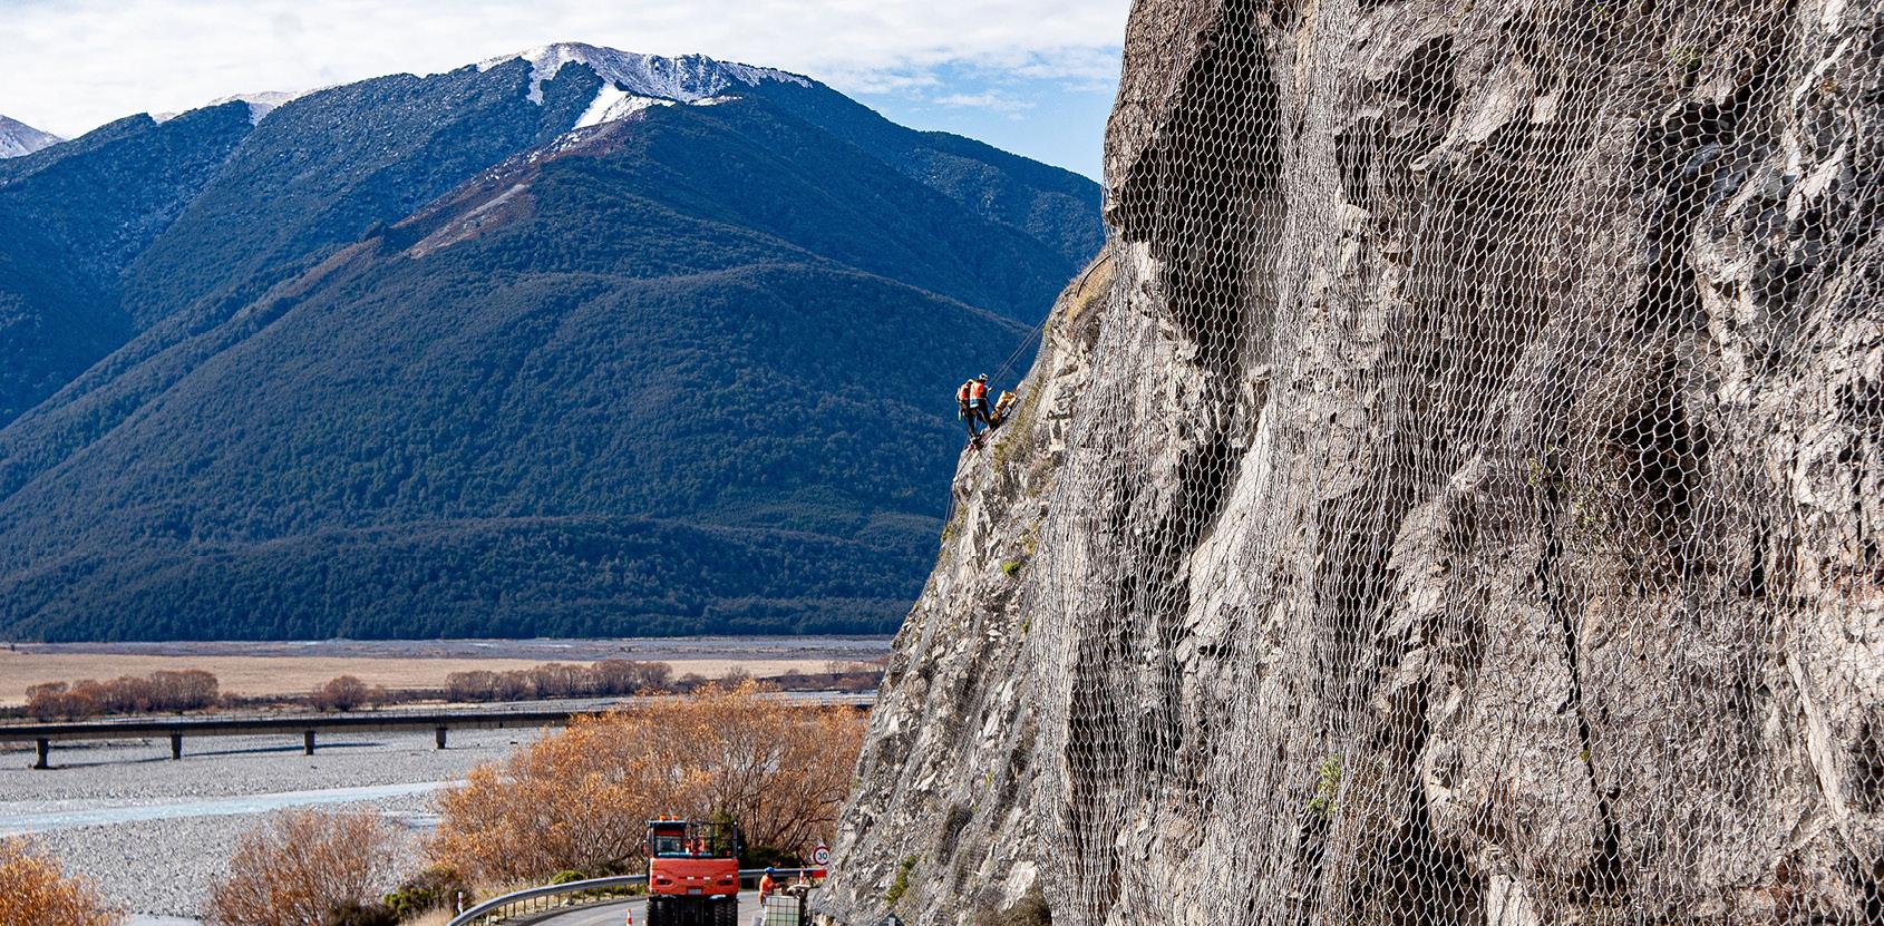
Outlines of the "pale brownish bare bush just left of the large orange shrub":
M209 890L219 926L307 926L369 903L398 875L401 836L375 813L284 811L247 832Z

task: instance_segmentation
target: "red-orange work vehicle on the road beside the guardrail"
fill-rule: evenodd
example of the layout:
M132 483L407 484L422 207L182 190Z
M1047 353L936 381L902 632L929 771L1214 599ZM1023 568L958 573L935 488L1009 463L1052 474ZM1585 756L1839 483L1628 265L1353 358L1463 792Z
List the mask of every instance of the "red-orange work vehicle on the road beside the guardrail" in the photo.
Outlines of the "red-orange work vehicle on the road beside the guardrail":
M739 926L739 826L648 821L646 926Z

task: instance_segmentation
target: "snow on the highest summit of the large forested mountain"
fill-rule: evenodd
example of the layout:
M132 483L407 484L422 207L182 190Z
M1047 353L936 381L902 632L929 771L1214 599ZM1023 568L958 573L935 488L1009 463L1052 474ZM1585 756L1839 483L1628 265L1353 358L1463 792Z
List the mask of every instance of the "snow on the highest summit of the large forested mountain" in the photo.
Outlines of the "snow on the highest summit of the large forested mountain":
M588 64L603 81L629 94L678 100L682 104L722 96L731 87L757 87L763 81L795 83L799 87L812 85L808 77L797 73L712 60L705 55L665 58L659 55L603 49L580 41L541 45L518 55L479 62L477 68L488 72L516 58L529 62L529 102L533 104L543 102L543 81L556 77L565 64Z

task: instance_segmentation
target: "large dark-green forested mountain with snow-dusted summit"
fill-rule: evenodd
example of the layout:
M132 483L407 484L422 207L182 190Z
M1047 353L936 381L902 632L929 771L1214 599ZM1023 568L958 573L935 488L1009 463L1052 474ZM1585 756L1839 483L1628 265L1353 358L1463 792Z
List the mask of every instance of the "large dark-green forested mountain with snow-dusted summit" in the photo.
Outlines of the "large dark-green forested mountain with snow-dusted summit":
M89 303L109 354L0 429L0 629L895 627L951 390L1096 247L1096 186L705 58L597 119L652 90L561 49L222 152Z

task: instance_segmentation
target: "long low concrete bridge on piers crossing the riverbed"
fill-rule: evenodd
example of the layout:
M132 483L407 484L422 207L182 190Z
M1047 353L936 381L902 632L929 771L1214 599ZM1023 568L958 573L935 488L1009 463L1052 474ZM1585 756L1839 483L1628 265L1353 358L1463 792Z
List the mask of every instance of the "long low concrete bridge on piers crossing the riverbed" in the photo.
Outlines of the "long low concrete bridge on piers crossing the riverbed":
M876 694L778 693L774 696L806 706L848 704L869 708ZM286 717L132 717L122 721L24 723L0 726L0 743L34 743L32 768L51 768L55 742L73 740L158 740L170 738L170 758L183 758L183 740L198 736L301 736L301 749L315 755L320 734L431 730L437 749L445 749L448 730L503 730L563 726L571 717L633 708L652 698L622 698L554 710L433 710L305 713Z

